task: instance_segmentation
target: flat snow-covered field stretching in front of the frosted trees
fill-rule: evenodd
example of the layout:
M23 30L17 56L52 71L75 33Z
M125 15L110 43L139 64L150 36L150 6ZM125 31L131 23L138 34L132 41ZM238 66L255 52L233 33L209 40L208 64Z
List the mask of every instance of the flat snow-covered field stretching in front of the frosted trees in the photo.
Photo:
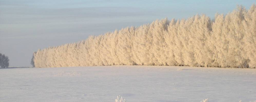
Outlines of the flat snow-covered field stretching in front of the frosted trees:
M95 66L0 69L0 101L239 102L256 100L256 69Z

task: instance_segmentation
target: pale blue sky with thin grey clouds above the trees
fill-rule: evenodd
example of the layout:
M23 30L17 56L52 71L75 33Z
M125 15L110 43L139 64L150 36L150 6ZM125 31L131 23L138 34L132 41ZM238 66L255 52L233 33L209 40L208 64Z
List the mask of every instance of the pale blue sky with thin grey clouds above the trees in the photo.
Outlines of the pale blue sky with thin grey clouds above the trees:
M255 0L0 0L0 53L10 67L31 67L33 52L156 19L214 18Z

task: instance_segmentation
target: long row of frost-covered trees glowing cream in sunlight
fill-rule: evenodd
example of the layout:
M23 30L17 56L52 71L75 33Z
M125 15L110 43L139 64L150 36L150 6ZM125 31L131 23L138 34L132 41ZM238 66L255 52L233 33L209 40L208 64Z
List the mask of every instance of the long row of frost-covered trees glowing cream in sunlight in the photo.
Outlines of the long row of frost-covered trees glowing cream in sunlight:
M256 68L256 6L156 20L34 52L35 67L171 65Z

